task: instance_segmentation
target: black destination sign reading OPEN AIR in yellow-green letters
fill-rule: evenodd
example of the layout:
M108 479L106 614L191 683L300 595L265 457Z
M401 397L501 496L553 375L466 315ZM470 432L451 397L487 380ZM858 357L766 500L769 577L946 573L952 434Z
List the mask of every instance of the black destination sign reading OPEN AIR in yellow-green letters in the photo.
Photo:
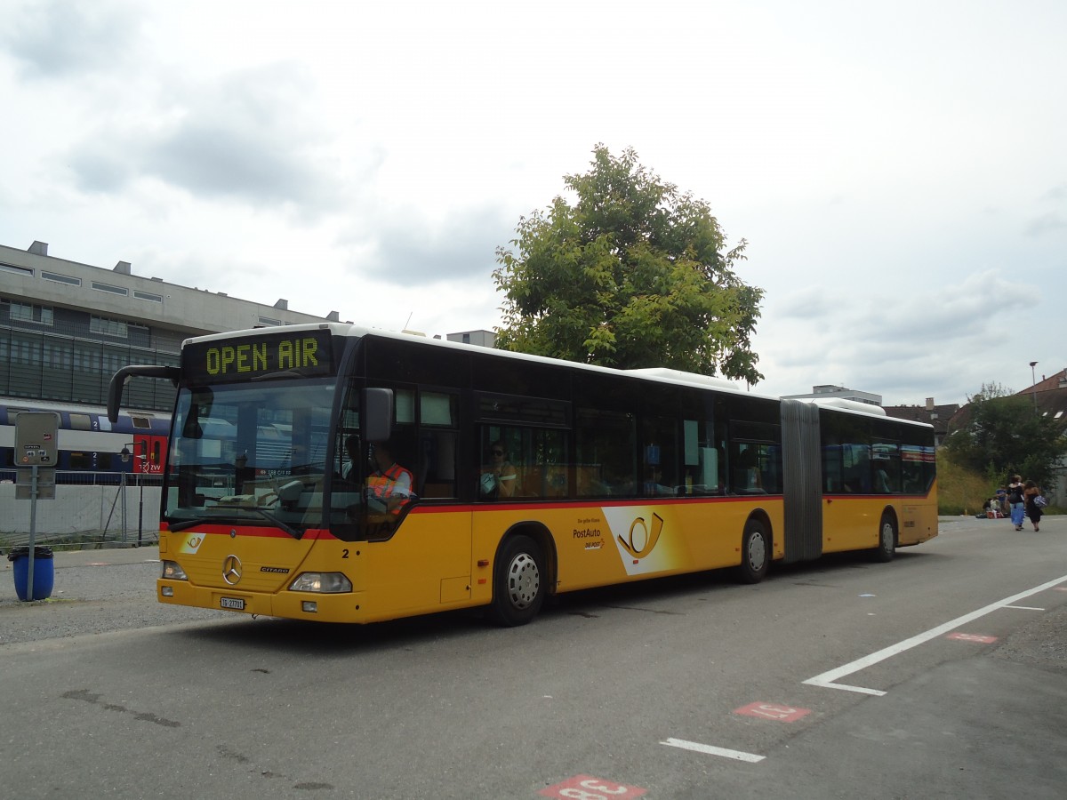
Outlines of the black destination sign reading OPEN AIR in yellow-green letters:
M187 345L181 368L189 383L329 375L333 373L333 347L329 331L233 336Z

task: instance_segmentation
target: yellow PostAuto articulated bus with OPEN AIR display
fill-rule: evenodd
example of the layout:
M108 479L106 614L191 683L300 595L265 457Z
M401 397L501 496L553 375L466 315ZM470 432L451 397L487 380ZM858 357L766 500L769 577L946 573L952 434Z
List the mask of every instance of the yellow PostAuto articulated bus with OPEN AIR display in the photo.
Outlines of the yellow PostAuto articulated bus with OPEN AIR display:
M937 534L929 426L671 370L337 323L187 340L158 598L327 622L487 607Z

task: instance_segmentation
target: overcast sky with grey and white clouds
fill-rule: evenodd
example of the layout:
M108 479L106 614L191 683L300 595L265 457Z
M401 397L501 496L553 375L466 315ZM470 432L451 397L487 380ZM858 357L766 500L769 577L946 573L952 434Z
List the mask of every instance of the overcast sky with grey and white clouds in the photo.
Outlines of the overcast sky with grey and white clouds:
M771 394L1067 367L1063 0L0 4L0 243L372 327L492 329L592 148L707 201Z

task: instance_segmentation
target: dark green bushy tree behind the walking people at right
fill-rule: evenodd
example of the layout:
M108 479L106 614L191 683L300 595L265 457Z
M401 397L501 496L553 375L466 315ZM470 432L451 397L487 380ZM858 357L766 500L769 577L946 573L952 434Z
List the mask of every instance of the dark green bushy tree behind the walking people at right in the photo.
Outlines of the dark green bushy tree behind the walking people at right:
M944 443L955 463L998 482L1021 475L1039 486L1049 484L1067 454L1062 422L1038 414L1030 397L999 384L983 384L966 407L964 423Z

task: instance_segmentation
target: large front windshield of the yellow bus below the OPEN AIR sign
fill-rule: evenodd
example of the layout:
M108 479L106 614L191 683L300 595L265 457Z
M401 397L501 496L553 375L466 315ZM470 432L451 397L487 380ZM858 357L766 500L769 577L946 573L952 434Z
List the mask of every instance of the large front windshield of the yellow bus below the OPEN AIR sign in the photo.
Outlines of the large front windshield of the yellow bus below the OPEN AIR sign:
M299 538L321 527L334 386L323 378L181 387L164 487L171 530L218 522Z

